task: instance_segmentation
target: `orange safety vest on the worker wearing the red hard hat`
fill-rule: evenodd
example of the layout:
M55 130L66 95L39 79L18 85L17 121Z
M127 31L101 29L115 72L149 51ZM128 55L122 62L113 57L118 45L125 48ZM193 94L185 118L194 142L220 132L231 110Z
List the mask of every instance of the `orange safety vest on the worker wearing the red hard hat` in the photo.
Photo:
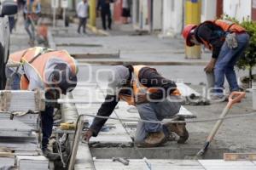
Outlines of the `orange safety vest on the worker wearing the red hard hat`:
M238 32L246 31L246 29L244 29L242 26L240 26L240 25L238 25L238 24L236 24L236 23L234 23L234 22L232 22L230 20L207 20L207 21L201 23L201 25L206 23L206 22L210 22L210 23L212 23L212 24L214 24L216 26L219 26L219 27L221 27L221 29L223 31L226 31L226 32L230 31L230 32L237 32L238 33ZM201 37L200 37L200 39L204 43L206 48L208 48L210 50L213 49L212 48L212 44L210 44L209 42L205 41Z

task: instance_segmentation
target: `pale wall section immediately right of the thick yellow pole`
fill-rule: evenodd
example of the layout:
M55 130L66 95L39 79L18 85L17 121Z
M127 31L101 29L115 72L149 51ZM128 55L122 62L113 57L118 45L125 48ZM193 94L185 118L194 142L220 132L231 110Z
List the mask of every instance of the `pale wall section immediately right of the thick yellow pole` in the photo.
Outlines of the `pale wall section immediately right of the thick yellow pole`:
M216 9L217 0L201 0L201 22L216 19Z

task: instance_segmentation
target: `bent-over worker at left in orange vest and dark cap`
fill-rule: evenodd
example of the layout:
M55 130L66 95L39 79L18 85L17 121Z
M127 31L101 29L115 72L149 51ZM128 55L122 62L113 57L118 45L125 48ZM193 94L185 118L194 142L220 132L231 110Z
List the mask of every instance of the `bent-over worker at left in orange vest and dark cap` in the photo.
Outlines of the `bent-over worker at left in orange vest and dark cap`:
M7 77L12 77L12 88L21 90L42 89L45 91L46 107L41 112L42 150L49 160L59 158L47 149L53 127L55 99L76 87L77 65L65 50L49 48L28 48L9 55L9 64L19 64L18 69L8 69ZM10 76L11 75L11 76Z

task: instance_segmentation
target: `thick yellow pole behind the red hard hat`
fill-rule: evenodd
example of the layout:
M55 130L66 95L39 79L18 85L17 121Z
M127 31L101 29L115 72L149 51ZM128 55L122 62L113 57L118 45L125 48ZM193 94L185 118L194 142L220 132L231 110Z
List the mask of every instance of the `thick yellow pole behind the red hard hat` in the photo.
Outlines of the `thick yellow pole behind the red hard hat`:
M201 23L201 0L185 1L185 25ZM201 59L201 46L186 47L186 59Z

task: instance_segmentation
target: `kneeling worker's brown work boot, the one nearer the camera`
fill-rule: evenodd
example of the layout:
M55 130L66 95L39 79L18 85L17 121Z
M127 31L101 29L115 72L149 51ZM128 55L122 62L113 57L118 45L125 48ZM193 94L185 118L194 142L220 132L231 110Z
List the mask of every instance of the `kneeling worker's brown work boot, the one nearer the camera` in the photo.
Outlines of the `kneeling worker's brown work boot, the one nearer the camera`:
M139 147L157 147L167 142L166 135L163 132L150 132L143 143L138 144Z

